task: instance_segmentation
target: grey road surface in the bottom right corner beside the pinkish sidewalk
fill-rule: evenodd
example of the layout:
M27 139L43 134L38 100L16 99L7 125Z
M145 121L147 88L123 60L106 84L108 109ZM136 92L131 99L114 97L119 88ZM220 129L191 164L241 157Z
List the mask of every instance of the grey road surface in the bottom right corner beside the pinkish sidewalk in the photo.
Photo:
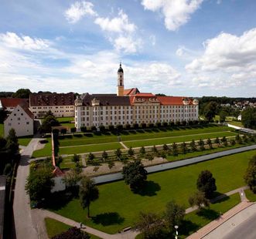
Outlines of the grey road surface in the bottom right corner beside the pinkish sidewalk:
M220 227L211 231L203 239L253 239L256 238L256 204L230 217Z

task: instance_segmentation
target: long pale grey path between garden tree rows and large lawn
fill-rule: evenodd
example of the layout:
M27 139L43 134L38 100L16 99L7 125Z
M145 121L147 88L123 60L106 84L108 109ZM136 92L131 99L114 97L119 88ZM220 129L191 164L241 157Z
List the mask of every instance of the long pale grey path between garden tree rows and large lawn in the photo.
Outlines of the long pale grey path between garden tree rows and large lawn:
M151 166L151 167L145 167L145 170L148 171L148 173L155 173L155 172L159 172L162 170L170 170L176 167L183 167L189 164L193 164L193 163L200 163L203 161L207 161L207 160L213 160L215 158L218 157L224 157L230 154L234 154L234 153L241 153L247 150L256 150L256 145L251 145L251 146L245 146L245 147L241 147L241 148L237 148L237 149L233 149L233 150L226 150L226 151L222 151L222 152L218 152L218 153L210 153L208 155L203 155L200 157L193 157L187 160L179 160L176 162L169 162L169 163L162 163L159 165L155 165L155 166ZM114 180L121 180L123 178L121 173L111 173L111 174L107 174L107 175L101 175L101 176L97 176L94 177L95 183L107 183L107 182L111 182Z

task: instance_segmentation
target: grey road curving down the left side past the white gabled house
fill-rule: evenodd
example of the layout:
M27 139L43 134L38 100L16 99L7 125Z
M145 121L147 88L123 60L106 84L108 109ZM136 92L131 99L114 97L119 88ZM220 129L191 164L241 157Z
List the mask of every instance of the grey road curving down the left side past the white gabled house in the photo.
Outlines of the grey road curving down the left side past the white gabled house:
M29 175L29 158L31 157L32 151L38 140L38 138L33 138L29 145L22 151L22 158L17 170L13 201L13 214L17 239L38 238L36 229L32 224L29 196L25 191L26 177Z

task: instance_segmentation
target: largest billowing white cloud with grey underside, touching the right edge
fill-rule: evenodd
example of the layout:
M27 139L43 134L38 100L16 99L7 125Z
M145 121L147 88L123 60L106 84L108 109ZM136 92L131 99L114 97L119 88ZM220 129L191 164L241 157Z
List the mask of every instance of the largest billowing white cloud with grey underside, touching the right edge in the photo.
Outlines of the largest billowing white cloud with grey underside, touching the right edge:
M256 77L256 29L242 35L222 32L203 43L204 52L186 65L194 85L215 89L250 87Z

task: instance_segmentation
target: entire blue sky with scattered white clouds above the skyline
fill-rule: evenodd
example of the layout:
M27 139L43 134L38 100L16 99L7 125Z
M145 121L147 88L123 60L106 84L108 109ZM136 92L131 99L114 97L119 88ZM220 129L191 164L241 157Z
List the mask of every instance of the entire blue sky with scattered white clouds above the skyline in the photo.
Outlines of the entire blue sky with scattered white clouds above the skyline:
M0 91L256 96L255 0L0 0Z

